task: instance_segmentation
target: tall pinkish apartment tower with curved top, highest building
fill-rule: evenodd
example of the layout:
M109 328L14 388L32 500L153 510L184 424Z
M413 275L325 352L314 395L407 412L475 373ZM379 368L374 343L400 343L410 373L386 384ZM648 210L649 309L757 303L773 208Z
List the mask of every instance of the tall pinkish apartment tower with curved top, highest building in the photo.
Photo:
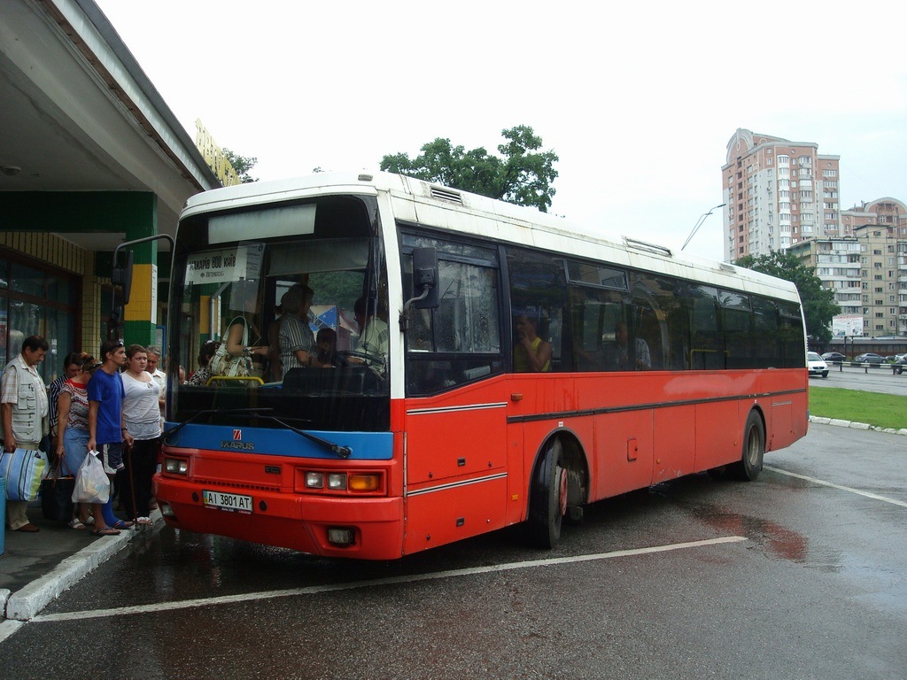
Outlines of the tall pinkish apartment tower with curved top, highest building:
M814 142L737 129L721 169L725 259L767 255L805 238L850 236L838 203L839 158L820 154Z

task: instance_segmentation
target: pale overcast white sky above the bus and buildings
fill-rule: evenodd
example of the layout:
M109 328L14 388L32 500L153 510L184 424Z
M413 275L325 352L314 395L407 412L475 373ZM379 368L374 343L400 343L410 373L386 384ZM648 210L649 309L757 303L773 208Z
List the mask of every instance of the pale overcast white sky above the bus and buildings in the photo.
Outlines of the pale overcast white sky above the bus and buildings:
M190 136L259 180L528 125L560 157L551 213L679 249L744 128L840 156L842 209L907 201L902 0L95 1ZM716 210L685 253L723 238Z

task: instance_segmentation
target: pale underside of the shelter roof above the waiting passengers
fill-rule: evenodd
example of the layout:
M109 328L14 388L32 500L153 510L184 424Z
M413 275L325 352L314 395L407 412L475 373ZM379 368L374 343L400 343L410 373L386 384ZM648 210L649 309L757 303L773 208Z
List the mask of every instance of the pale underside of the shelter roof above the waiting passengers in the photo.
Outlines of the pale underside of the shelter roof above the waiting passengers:
M158 197L158 229L172 235L183 202L200 190L197 181L188 179L147 124L143 128L136 120L131 92L112 92L73 47L78 37L64 34L43 5L4 3L0 192L151 191ZM63 238L83 248L112 250L123 234L67 233Z

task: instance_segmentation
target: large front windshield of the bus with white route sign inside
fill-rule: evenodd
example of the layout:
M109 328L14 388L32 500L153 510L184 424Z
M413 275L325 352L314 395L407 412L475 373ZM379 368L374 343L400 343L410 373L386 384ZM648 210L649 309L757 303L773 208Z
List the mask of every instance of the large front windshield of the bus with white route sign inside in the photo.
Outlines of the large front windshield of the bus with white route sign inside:
M387 287L374 200L195 215L173 269L176 423L386 430Z

